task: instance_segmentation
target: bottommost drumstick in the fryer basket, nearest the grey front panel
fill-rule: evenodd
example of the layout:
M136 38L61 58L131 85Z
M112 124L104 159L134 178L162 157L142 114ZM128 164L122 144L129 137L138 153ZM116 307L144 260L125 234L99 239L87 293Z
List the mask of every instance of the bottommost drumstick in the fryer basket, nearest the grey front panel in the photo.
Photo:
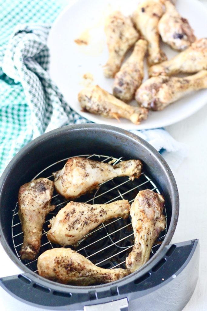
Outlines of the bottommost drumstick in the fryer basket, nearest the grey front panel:
M87 286L117 281L128 275L124 269L103 269L70 248L53 248L42 253L38 273L62 284Z

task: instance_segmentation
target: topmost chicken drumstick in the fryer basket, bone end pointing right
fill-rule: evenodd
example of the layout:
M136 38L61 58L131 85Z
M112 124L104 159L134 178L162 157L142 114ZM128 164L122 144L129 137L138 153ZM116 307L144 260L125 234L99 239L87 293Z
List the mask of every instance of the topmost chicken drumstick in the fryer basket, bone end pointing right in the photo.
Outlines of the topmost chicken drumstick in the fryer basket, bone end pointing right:
M55 188L66 199L74 199L92 191L100 183L118 176L139 178L142 163L140 160L122 161L116 165L74 157L55 173Z

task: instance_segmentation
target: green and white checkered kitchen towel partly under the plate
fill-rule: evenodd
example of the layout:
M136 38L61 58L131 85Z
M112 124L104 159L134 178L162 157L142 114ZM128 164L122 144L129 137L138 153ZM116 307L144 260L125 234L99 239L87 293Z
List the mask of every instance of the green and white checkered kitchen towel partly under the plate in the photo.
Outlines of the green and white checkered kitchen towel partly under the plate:
M70 109L48 75L50 25L69 2L0 0L0 175L35 137L90 122ZM133 132L157 150L169 151L176 165L185 156L182 144L164 129Z

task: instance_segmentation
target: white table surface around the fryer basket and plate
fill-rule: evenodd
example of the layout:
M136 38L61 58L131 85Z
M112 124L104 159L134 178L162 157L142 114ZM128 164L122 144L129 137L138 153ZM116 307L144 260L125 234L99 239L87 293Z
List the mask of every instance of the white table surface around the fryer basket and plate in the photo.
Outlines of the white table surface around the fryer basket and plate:
M202 0L207 5L207 0ZM178 225L172 243L200 240L200 275L196 289L183 311L207 310L207 105L193 116L166 128L188 148L187 158L173 169L180 195ZM168 156L165 157L168 159ZM0 276L20 273L0 244ZM0 287L1 311L43 311L13 298ZM152 310L153 311L153 310Z

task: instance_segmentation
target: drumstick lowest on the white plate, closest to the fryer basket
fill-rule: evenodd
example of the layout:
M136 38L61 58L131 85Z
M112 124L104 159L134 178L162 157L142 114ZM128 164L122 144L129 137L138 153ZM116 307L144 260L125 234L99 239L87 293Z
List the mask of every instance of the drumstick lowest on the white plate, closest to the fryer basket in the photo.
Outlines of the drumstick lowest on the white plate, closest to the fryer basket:
M98 85L80 91L78 100L84 111L106 118L115 118L118 121L119 118L125 118L134 124L139 124L148 116L147 109L125 104Z

